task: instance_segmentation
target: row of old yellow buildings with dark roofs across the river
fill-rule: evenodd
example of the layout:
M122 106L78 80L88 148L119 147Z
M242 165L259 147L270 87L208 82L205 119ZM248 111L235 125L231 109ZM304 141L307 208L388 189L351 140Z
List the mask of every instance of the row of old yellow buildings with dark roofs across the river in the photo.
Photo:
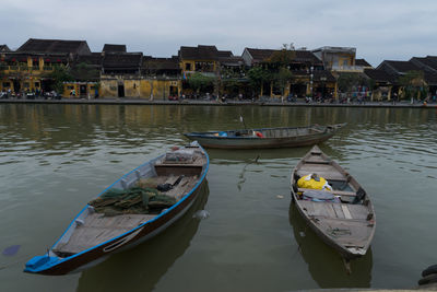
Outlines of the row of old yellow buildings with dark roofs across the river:
M275 62L273 56L291 52L291 58ZM285 69L285 84L261 79L256 86L252 68L270 72ZM314 50L245 48L241 56L215 46L181 46L172 58L154 58L143 52L127 51L126 45L105 44L102 51L91 51L86 40L31 38L15 50L0 46L0 91L12 94L52 91L57 68L69 69L63 80L64 97L141 97L166 100L169 96L211 95L244 96L319 96L339 98L345 91L342 74L356 74L366 84L353 84L347 91L373 100L399 96L404 90L401 78L411 71L421 72L421 86L437 90L437 57L414 57L409 61L385 60L373 68L356 58L353 47L321 47ZM192 79L203 77L202 86ZM206 81L205 81L206 80ZM370 84L370 85L369 85ZM344 86L343 86L344 87Z

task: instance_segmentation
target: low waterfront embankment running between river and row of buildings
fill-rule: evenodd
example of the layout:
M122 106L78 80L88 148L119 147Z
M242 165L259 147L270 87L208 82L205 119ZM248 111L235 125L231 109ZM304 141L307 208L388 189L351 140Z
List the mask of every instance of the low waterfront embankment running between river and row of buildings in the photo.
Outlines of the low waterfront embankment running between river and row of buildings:
M211 106L232 106L232 105L259 105L259 106L304 106L304 107L401 107L401 108L437 108L437 104L408 103L408 102L366 102L366 103L305 103L305 102L281 102L281 101L206 101L206 100L145 100L145 98L60 98L60 100L23 100L8 98L0 100L0 104L109 104L109 105L211 105Z

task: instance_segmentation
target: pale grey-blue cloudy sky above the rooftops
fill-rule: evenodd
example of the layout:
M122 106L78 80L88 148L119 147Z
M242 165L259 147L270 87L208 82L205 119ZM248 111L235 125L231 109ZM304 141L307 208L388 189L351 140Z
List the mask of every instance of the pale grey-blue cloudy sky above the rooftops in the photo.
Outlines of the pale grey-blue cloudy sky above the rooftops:
M0 44L86 40L93 51L176 55L180 46L355 47L373 66L437 55L436 0L1 0Z

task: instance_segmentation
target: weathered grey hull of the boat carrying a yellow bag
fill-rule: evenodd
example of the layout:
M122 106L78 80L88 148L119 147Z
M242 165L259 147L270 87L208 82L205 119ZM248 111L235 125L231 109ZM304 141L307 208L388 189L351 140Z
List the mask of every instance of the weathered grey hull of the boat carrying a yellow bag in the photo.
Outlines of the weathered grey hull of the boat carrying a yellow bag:
M329 180L328 177L330 175L327 170L329 167L331 170L336 170L338 173L335 175L331 174L331 180L339 180L341 176L344 176L344 179L349 182L354 189L361 188L355 178L350 176L349 173L329 157L326 156L324 163L320 162L320 164L318 164L314 156L309 155L312 151L324 155L318 147L314 147L293 170L291 182L292 200L296 205L296 209L305 222L327 245L334 248L346 260L362 257L367 253L375 234L376 218L373 203L367 194L363 199L363 203L357 205L350 202L344 203L342 200L331 203L322 201L308 202L307 200L300 199L297 192L302 189L298 189L296 186L296 177L302 177L303 173L311 170L311 167L318 171L309 173L320 172L323 174L321 175L322 177L326 175L327 180ZM309 165L311 166L309 166L309 168L303 166L306 159L310 162ZM314 165L318 166L314 167ZM326 167L324 171L323 167ZM335 194L335 190L332 191ZM351 196L351 194L346 195L346 192L350 191L340 191L339 194ZM336 231L339 234L335 234ZM341 232L349 232L350 234L341 234Z

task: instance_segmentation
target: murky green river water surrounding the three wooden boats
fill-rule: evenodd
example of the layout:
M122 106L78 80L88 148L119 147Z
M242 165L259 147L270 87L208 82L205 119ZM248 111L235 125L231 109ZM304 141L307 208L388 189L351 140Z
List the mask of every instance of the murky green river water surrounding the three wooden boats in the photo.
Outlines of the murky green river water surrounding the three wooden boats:
M347 122L320 148L370 195L377 230L347 275L291 205L309 147L209 150L208 185L165 233L82 273L22 272L86 201L188 131ZM0 105L0 291L411 288L437 264L437 112L189 105ZM259 156L258 160L256 157ZM205 209L199 221L192 212Z

